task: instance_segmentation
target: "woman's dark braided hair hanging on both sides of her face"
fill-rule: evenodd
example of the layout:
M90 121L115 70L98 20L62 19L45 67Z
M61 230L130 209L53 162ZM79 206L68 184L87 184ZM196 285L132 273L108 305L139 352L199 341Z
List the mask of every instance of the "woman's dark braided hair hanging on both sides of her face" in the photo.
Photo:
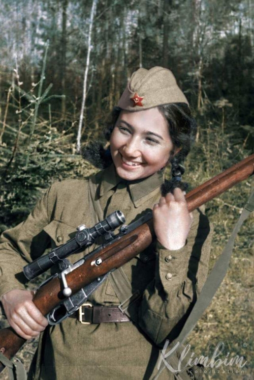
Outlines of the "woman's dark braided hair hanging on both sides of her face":
M166 180L162 185L162 195L165 196L167 193L173 192L175 187L180 187L182 190L187 189L187 183L181 181L181 176L184 173L182 164L194 142L197 124L190 113L188 105L185 103L163 104L157 108L168 122L170 138L174 147L180 148L176 154L172 154L169 158L172 179ZM104 137L107 141L110 140L111 133L121 111L119 107L113 108L110 119L104 129ZM82 154L84 158L99 168L106 168L112 162L109 148L103 149L102 144L98 142L90 143L82 151Z

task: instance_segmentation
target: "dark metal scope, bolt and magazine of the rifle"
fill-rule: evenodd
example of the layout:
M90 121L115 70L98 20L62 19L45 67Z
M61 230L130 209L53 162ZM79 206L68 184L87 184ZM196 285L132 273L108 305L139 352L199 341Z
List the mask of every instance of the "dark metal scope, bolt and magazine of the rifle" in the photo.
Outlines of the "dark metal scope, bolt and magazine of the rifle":
M55 308L53 308L50 313L46 315L49 324L60 323L63 319L68 318L73 314L78 308L87 300L89 295L98 288L98 286L106 279L110 272L104 276L98 277L92 283L86 285L84 288L78 290L73 294L72 289L68 286L66 275L76 269L78 266L82 265L88 258L94 257L97 252L111 245L114 241L118 240L123 231L125 231L128 226L122 226L118 235L113 234L113 230L119 227L125 222L124 215L121 211L117 210L112 212L107 218L97 223L92 228L86 228L84 224L77 227L77 233L75 238L68 240L67 243L55 248L49 254L39 257L37 260L31 262L23 268L24 275L28 280L32 280L38 275L45 272L47 269L51 268L54 264L58 264L59 273L48 278L44 283L41 284L40 288L50 282L52 279L58 277L61 285L62 296L65 297L64 300ZM124 228L125 227L125 228ZM98 237L104 236L106 243L101 245L98 249L92 251L90 254L86 255L83 259L77 261L75 264L71 264L66 257L77 252L80 248L85 248ZM101 259L95 259L94 265L98 266L102 263Z

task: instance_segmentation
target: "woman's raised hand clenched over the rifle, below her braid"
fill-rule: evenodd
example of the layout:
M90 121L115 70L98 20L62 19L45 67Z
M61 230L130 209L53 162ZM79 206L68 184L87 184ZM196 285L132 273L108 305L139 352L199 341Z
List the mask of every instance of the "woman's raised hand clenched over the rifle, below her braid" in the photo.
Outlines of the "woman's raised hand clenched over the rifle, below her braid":
M174 194L168 193L153 207L153 225L157 240L169 250L182 248L192 219L184 193L180 188L175 188Z

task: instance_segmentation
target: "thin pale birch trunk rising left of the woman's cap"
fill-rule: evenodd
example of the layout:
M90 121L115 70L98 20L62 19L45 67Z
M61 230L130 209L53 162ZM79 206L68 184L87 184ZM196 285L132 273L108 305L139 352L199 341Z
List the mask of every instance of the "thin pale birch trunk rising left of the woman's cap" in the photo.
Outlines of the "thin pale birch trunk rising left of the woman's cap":
M88 71L89 71L90 52L91 52L91 34L92 34L93 17L94 17L94 14L96 13L96 4L97 4L97 0L93 0L92 1L91 13L90 13L90 23L89 23L89 33L88 33L88 49L87 49L86 67L85 67L84 82L83 82L83 97L82 97L79 126L78 126L78 135L77 135L77 152L78 153L80 153L80 147L81 147L81 130L82 130L82 122L84 119L87 77L88 77ZM85 125L84 125L84 129L85 129Z

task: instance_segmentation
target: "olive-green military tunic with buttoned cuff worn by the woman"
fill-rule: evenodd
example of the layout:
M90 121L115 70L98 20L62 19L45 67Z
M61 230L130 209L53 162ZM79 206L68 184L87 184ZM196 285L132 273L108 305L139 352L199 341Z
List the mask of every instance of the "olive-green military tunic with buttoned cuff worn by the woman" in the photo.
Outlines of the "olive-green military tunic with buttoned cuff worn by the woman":
M92 194L92 184L95 193ZM0 245L0 294L24 289L22 272L27 262L41 256L51 246L59 246L75 236L80 224L92 227L100 218L119 209L129 224L150 210L161 197L163 173L135 182L117 176L112 165L83 180L53 184L28 218L3 233ZM37 359L30 378L44 380L149 379L156 373L159 348L168 337L178 336L207 277L211 228L201 210L194 220L186 244L169 251L154 242L122 268L137 301L138 320L133 322L81 324L67 318L41 334ZM90 252L93 247L86 249ZM70 261L83 256L74 254ZM94 305L118 306L112 279L107 279L89 298ZM174 378L165 370L161 379Z

